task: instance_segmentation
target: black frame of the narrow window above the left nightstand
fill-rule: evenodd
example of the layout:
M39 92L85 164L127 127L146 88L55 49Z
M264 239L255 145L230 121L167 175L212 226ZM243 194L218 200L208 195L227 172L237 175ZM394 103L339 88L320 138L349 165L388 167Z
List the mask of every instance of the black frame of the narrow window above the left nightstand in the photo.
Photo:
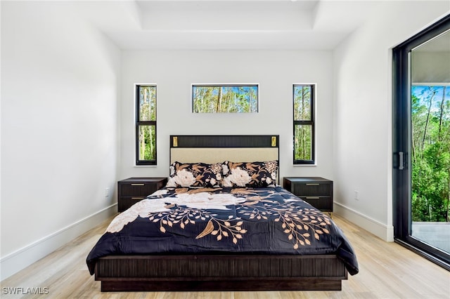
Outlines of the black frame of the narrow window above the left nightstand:
M155 111L155 120L154 121L139 121L139 88L143 87L154 87L155 88L155 107L158 105L158 88L156 84L134 84L134 163L135 166L155 166L158 163L158 147L157 147L157 126L156 121L158 119L158 111ZM139 159L139 126L155 126L155 159L154 160L140 160Z

